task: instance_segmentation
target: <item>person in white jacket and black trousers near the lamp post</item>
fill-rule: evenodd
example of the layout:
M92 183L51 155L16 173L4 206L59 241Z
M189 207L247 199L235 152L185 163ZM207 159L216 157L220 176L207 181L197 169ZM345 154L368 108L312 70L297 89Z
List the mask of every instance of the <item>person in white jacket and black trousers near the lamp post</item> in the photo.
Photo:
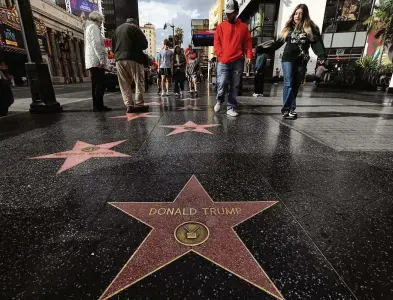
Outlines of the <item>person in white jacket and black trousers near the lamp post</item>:
M109 107L104 106L107 53L100 29L104 17L94 11L89 15L89 20L85 30L85 64L86 69L90 71L93 109L110 111Z

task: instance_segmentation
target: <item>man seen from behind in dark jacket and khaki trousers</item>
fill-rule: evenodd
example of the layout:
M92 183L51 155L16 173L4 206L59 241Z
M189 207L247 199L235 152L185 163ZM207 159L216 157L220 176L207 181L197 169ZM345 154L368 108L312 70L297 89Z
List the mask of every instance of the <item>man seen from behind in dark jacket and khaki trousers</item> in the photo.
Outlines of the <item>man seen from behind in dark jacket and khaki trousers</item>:
M148 42L139 28L137 19L129 18L126 23L117 27L113 34L117 76L127 113L146 112L149 107L144 105L143 93L145 91L144 62L146 54L143 50ZM135 101L132 99L131 85L135 82Z

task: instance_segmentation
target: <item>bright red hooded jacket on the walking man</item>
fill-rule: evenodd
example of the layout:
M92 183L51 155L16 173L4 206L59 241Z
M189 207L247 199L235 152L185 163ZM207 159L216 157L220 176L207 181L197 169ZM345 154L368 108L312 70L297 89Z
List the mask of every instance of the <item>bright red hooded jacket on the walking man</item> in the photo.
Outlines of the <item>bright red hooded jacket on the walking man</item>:
M246 23L237 19L235 24L225 21L217 26L214 34L214 53L223 64L244 57L252 58L252 39Z

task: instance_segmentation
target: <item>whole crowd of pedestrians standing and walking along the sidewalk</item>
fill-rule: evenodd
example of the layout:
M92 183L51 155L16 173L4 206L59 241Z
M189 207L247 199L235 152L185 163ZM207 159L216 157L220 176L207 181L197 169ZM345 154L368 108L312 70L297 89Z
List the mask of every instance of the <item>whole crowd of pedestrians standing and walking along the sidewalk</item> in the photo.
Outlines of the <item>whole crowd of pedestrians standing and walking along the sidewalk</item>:
M217 26L214 35L214 65L217 74L217 101L214 111L218 113L226 101L226 113L235 117L238 115L236 110L237 96L242 85L243 71L245 65L249 65L253 58L253 45L247 24L238 18L239 3L236 0L226 0L225 14L226 21ZM91 77L93 109L97 112L111 110L104 105L107 51L101 34L103 21L104 18L99 12L92 12L84 26L85 65ZM201 61L191 45L186 50L180 46L176 46L172 50L169 41L165 40L156 60L151 62L144 53L148 48L148 41L139 28L139 21L134 18L127 19L116 29L112 45L118 82L127 113L149 110L144 102L144 93L149 82L146 69L150 67L153 67L157 72L158 93L161 96L170 95L169 87L172 81L176 96L184 94L185 81L188 82L190 93L195 95L198 93ZM256 47L254 97L263 97L268 55L284 45L282 68L276 68L274 83L277 84L282 71L284 86L281 113L283 118L295 119L297 117L296 99L305 78L307 63L310 60L310 48L318 56L317 84L323 80L327 71L327 55L321 33L311 20L308 7L305 4L299 4L295 8L276 41ZM9 105L13 102L12 92L7 84L6 77L1 73L0 113L2 115L7 113ZM135 87L135 95L133 86Z

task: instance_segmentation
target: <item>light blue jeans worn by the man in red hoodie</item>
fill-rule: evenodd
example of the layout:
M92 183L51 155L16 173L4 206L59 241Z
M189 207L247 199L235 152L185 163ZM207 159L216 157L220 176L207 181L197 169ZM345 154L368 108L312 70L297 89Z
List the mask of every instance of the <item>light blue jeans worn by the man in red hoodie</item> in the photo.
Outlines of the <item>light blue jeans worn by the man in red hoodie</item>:
M228 91L228 109L237 107L237 93L243 75L244 60L238 59L230 64L218 63L217 67L217 102L223 103Z

